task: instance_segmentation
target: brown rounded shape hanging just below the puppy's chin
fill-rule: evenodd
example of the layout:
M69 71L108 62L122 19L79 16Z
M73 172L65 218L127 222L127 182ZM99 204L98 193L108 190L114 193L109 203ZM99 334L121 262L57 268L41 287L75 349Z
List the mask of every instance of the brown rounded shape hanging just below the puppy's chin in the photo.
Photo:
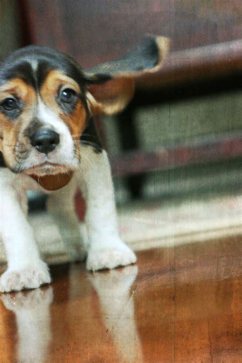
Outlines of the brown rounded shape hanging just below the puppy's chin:
M73 172L62 173L56 175L44 175L39 177L32 174L31 178L37 181L37 183L46 190L58 190L67 185L73 176Z

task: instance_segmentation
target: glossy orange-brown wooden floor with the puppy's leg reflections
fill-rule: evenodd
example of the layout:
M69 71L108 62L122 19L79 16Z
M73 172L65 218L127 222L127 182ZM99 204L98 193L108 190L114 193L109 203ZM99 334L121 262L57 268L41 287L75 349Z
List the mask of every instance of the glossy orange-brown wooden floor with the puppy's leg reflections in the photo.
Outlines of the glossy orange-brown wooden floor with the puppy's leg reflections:
M241 362L242 238L138 252L137 265L2 295L1 363Z

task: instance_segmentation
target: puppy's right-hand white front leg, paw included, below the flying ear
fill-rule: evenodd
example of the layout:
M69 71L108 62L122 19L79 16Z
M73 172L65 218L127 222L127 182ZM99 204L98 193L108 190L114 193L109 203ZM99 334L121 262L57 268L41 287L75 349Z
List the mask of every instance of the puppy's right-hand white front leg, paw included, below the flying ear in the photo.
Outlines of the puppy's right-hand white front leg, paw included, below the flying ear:
M133 251L118 234L114 191L108 157L90 146L81 148L81 189L86 199L89 237L87 269L114 269L136 262Z

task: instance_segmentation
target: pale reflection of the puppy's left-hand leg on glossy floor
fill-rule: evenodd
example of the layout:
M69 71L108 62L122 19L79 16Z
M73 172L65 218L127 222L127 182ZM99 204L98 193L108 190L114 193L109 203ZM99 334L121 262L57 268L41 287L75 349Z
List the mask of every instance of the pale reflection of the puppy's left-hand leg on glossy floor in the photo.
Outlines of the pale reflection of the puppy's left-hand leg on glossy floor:
M45 353L51 340L50 305L52 287L2 295L5 307L15 312L18 348L16 361L45 361Z

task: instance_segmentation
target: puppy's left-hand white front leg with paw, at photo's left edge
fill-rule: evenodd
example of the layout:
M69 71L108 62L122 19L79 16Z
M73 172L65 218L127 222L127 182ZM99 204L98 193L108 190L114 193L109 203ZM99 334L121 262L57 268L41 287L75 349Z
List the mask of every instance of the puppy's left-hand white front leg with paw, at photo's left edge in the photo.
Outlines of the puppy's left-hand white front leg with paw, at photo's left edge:
M0 183L0 233L8 269L1 276L0 291L20 291L51 282L47 265L40 259L31 226L22 208L22 193Z

